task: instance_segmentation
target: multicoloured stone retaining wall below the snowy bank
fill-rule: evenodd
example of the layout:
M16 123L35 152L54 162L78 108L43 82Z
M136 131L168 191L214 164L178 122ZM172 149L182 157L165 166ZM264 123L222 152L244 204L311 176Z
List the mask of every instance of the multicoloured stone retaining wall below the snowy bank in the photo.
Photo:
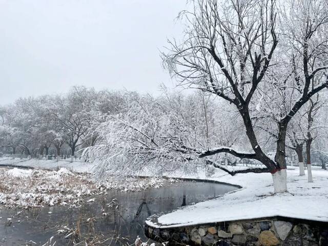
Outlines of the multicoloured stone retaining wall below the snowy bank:
M205 246L328 246L328 222L272 217L188 227L152 228L146 236L159 242Z

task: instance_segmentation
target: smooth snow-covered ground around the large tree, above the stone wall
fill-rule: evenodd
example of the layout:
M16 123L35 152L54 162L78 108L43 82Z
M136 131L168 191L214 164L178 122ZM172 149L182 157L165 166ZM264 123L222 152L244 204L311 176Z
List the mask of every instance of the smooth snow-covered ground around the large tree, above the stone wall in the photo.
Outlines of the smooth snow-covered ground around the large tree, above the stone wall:
M314 182L309 183L306 176L299 176L298 168L289 169L289 192L273 194L269 173L230 176L217 170L208 179L229 182L242 188L162 215L156 223L151 220L147 223L155 227L176 227L270 216L328 221L328 171L313 168L313 176ZM204 174L195 177L206 178Z

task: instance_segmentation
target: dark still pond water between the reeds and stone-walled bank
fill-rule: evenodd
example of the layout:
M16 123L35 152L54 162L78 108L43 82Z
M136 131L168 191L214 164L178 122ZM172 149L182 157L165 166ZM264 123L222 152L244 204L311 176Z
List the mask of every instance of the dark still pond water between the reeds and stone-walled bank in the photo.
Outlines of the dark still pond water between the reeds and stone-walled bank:
M68 232L57 232L63 230L63 226L73 230L78 228L79 240L89 237L91 241L90 238L98 235L113 238L100 245L127 245L133 243L137 235L147 240L143 227L150 215L169 212L235 189L218 183L183 181L142 192L108 192L106 196L96 197L95 202L84 203L81 208L54 206L20 212L0 207L0 245L42 245L51 236L57 242L55 245L73 245L73 235L65 238ZM7 218L11 218L11 223Z

